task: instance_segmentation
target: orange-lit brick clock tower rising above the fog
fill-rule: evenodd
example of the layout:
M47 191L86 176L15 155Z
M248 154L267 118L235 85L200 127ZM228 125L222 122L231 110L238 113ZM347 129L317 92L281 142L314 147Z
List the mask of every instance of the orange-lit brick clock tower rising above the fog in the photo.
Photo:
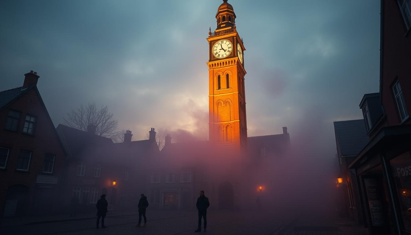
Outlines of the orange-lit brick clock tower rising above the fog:
M236 30L233 6L223 0L218 7L217 28L208 33L210 142L232 153L247 147L247 116L242 39Z

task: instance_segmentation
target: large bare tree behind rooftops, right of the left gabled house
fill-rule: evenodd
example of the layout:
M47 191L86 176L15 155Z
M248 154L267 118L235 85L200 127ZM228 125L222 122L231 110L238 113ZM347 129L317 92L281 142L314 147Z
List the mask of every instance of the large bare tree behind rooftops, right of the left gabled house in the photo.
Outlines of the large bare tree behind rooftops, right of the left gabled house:
M107 106L97 108L95 102L83 104L76 109L70 110L67 117L63 117L65 124L69 127L87 131L88 125L96 126L96 135L113 138L119 135L117 132L118 121L113 119Z

